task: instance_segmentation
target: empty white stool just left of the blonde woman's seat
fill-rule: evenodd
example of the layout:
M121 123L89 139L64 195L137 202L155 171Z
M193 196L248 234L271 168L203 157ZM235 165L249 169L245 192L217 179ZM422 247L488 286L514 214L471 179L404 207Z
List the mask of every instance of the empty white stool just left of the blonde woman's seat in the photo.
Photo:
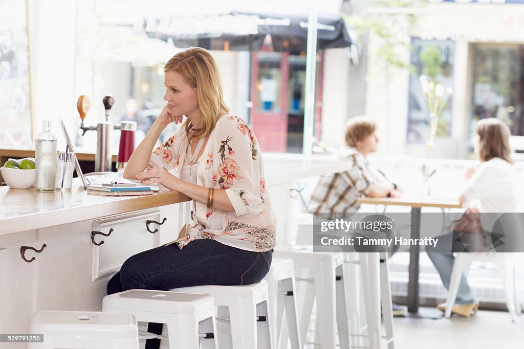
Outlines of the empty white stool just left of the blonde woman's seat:
M167 336L140 333L140 340L169 340L169 348L217 348L213 297L210 295L156 290L128 290L105 296L104 312L132 313L139 322L167 325ZM174 339L174 340L173 340Z

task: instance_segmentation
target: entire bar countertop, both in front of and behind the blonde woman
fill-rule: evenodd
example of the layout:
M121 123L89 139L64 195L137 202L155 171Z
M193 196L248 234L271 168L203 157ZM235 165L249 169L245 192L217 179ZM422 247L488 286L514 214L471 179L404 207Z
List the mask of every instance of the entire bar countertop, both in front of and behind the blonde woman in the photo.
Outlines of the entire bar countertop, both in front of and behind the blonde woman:
M276 187L298 179L345 171L348 164L327 156L304 161L298 154L264 154L266 187ZM111 197L88 195L79 178L73 178L68 191L36 192L35 188L0 187L0 235L59 226L103 216L118 215L189 201L190 198L167 189L145 196ZM275 200L274 200L275 201Z

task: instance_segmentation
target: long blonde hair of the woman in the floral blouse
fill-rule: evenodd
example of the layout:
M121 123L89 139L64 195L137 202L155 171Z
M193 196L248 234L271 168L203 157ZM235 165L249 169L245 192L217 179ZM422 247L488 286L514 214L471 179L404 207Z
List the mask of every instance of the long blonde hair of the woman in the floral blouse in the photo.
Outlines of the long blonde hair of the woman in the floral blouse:
M164 72L177 72L186 83L196 88L202 121L196 129L189 118L185 120L183 127L189 141L194 137L207 136L215 128L216 120L229 112L224 103L220 73L213 56L208 50L191 47L174 55L166 63Z

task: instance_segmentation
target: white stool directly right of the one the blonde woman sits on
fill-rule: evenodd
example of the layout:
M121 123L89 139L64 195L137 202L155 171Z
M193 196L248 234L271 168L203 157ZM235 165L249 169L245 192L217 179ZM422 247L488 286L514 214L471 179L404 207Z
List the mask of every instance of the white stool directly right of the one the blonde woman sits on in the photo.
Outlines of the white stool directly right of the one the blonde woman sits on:
M288 344L287 337L286 343L282 343L283 339L280 338L285 309L291 349L302 349L293 268L293 261L289 258L273 258L269 272L264 278L268 284L268 302L271 309L272 321L270 323L274 348L287 347Z

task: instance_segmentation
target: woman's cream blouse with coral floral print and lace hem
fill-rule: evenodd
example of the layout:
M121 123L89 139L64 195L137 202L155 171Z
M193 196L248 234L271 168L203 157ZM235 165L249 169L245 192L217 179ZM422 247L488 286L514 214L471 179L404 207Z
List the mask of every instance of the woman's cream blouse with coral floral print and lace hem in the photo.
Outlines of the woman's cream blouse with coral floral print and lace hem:
M152 152L150 166L162 166L180 178L188 146L181 129ZM235 211L194 202L193 222L185 226L185 237L176 241L180 249L195 239L214 239L256 252L274 248L276 216L266 192L264 163L244 120L226 115L216 122L199 161L196 184L225 189ZM242 239L252 243L238 243Z

